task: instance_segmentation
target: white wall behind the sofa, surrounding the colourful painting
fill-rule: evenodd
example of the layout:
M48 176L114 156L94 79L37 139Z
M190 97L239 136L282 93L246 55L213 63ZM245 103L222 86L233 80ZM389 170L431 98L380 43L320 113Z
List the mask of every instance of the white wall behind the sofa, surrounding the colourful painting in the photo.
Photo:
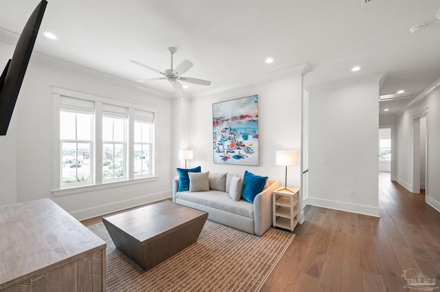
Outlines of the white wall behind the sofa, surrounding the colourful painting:
M285 168L275 165L276 150L301 151L301 99L302 76L283 80L261 82L230 91L215 93L191 100L191 148L194 159L188 167L201 166L213 172L234 172L243 175L245 170L284 184ZM225 100L259 96L259 166L214 164L212 154L212 104ZM299 165L300 161L298 161ZM300 166L287 168L287 185L300 188Z

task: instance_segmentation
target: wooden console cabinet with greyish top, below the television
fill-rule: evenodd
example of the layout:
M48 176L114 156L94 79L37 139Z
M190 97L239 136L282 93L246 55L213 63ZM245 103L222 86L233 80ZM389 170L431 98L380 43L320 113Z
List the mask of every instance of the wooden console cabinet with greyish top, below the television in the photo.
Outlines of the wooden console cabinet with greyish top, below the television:
M0 205L0 291L105 291L105 247L50 199Z

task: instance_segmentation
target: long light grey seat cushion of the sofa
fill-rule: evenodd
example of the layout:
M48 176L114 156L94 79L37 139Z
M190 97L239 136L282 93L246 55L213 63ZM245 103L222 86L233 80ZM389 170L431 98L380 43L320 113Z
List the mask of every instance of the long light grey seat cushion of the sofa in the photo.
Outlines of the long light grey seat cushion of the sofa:
M210 190L208 192L177 192L176 198L254 218L254 205L244 200L234 202L227 193L218 190Z

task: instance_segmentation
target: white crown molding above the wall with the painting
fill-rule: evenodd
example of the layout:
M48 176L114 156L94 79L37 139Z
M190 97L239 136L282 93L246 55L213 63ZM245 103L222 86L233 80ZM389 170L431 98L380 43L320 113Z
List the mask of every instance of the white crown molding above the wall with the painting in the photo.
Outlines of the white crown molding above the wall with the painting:
M278 80L281 78L286 78L286 77L294 76L294 75L298 75L298 74L305 76L310 71L312 71L312 69L311 69L311 66L309 65L309 63L304 63L304 64L272 71L267 74L253 76L251 78L248 78L248 79L243 80L241 82L233 83L231 85L225 85L223 87L217 87L214 89L207 89L207 90L199 91L197 93L192 93L191 97L192 98L201 98L204 96L212 96L216 93L221 93L221 92L229 91L232 89L246 87L249 85L255 85L255 84L262 83L262 82L269 82L269 81L273 81L273 80Z

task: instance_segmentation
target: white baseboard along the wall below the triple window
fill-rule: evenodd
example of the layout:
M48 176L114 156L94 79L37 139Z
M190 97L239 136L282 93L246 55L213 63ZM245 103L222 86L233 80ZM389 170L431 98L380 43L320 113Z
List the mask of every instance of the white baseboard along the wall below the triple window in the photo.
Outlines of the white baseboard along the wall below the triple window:
M157 194L147 194L146 196L139 196L133 199L91 207L89 209L79 210L76 212L72 212L70 214L74 216L78 221L80 221L88 218L93 218L96 216L102 216L104 214L109 214L111 212L117 212L119 210L123 210L129 207L136 207L138 205L144 205L146 203L152 203L154 201L167 199L170 198L171 196L172 196L171 191L159 192Z

